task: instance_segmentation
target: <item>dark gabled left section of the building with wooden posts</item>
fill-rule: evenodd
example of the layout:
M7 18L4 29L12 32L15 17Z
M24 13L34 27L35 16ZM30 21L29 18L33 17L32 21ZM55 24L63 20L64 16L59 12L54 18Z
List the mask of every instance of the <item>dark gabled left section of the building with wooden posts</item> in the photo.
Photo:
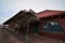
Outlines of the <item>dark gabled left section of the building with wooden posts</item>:
M28 26L28 20L29 20L29 26ZM20 11L17 14L15 14L13 17L8 19L6 22L3 23L3 25L9 25L9 30L15 31L20 30L22 32L26 32L28 28L29 32L34 32L34 24L38 22L37 14L32 11ZM28 27L27 27L28 26Z

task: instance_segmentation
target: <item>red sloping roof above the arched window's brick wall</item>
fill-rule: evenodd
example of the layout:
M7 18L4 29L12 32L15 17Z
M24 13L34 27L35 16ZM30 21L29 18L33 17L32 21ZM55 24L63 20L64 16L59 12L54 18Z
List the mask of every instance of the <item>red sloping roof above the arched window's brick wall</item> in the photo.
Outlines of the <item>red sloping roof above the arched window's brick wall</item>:
M42 12L38 13L38 17L49 17L49 16L54 16L54 15L60 15L62 13L65 13L65 11L53 11L53 10L46 10Z

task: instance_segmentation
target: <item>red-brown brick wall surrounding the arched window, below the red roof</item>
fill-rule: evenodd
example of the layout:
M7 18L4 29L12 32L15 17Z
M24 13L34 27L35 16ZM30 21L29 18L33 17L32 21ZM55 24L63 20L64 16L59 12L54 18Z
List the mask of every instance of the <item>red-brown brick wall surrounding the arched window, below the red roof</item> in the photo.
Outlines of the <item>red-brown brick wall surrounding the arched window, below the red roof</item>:
M52 19L41 19L41 24L39 25L39 34L44 35L44 37L50 37L50 38L54 38L54 39L63 39L65 40L65 34L64 33L58 33L58 32L44 32L43 31L43 25L50 20L53 22L57 22L61 26L62 29L64 30L63 32L65 32L65 17L61 17L61 18L52 18Z

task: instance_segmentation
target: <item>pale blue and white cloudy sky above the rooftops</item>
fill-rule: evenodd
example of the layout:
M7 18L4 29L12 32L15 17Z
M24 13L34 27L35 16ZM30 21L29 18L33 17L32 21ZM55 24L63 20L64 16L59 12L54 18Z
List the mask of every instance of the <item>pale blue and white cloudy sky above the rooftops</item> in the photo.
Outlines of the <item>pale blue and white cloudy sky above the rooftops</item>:
M4 23L21 10L65 11L65 0L0 0L0 24Z

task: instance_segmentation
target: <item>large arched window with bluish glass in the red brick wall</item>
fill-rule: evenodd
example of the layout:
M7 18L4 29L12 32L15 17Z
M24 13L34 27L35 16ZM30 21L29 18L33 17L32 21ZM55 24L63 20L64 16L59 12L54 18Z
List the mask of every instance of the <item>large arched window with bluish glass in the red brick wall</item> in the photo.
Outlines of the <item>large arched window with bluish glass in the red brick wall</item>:
M44 31L63 32L62 26L56 22L48 22L43 25Z

